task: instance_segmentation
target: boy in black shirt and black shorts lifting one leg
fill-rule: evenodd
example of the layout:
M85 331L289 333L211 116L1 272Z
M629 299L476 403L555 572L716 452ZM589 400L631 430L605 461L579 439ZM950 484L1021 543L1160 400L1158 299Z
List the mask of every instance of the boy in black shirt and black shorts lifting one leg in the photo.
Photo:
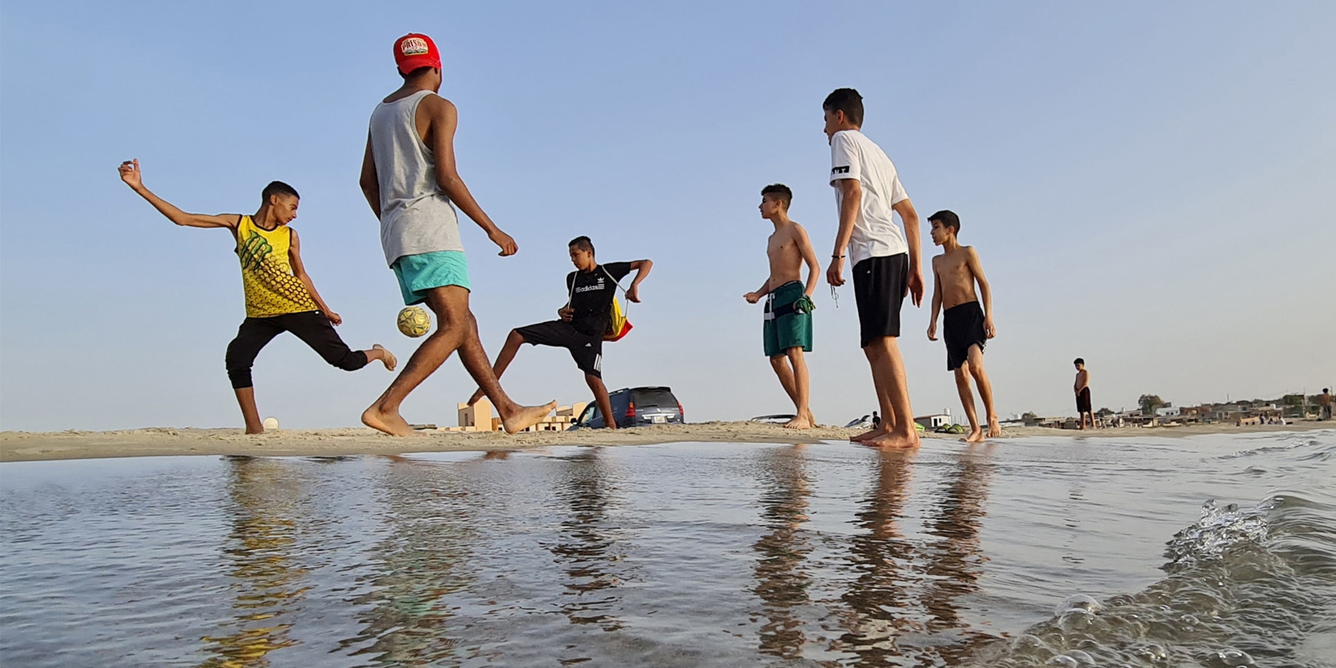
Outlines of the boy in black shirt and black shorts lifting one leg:
M593 398L603 411L608 429L617 429L612 420L612 402L608 401L608 387L603 383L603 337L611 326L612 299L617 295L617 282L636 271L631 287L627 289L628 302L640 302L640 282L649 275L655 263L648 259L635 262L609 262L599 265L593 259L593 242L588 236L570 240L570 262L576 271L566 274L566 305L557 309L560 321L538 322L510 330L505 346L497 354L492 366L497 378L510 366L514 354L522 343L534 346L556 346L570 351L576 366L585 374L585 382L593 390ZM482 398L482 390L469 397L469 405Z

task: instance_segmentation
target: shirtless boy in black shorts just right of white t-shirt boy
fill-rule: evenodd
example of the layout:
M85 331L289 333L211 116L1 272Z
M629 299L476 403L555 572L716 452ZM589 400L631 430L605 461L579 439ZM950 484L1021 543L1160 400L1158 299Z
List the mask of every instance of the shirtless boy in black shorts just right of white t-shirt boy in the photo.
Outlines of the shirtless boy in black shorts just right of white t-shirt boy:
M961 246L961 219L951 211L938 211L927 218L933 243L942 247L942 254L933 258L933 321L927 326L929 341L937 341L937 315L942 311L946 326L942 338L946 339L946 370L955 371L955 390L965 405L965 415L970 418L970 436L966 442L983 441L979 415L974 410L974 393L970 390L970 377L979 383L979 398L989 418L989 437L1002 436L993 410L993 383L983 370L983 346L997 334L993 327L993 291L983 278L979 254L973 246ZM974 283L983 294L983 307L974 293Z

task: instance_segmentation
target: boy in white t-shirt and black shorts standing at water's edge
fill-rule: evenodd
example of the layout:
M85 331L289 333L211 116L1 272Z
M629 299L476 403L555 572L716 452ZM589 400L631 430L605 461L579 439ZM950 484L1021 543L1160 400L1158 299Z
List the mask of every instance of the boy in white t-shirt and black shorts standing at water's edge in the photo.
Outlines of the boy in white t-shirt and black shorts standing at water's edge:
M835 90L822 103L822 110L831 144L830 183L839 211L835 253L826 279L832 286L842 286L846 258L854 267L860 341L883 415L880 426L850 441L878 448L918 448L904 361L896 342L904 295L912 295L914 306L923 301L918 214L891 159L859 131L863 98L858 91ZM892 214L900 215L904 232Z

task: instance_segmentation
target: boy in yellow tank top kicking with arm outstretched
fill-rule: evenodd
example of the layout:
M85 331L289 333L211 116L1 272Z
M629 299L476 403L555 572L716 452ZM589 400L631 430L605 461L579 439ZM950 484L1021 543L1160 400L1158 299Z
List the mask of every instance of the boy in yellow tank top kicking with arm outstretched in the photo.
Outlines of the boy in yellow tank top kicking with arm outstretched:
M315 283L302 266L301 240L287 223L297 218L299 198L291 186L273 182L261 194L255 215L187 214L144 187L139 160L120 163L120 180L148 200L168 220L186 227L226 227L236 242L246 290L246 319L236 338L227 345L227 377L246 420L246 433L265 432L255 407L251 366L274 337L291 331L311 346L326 362L355 371L373 359L394 370L398 361L379 343L370 350L351 350L334 325L343 322L315 291Z

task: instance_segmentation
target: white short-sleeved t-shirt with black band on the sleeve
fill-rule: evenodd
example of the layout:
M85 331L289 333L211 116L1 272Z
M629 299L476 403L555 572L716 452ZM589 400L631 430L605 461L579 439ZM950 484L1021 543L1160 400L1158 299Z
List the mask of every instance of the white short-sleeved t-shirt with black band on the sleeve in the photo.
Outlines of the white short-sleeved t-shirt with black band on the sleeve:
M867 135L856 130L840 130L831 138L831 186L835 187L835 211L844 199L840 179L858 179L863 191L863 204L854 219L854 235L848 240L850 266L867 258L908 253L904 232L892 218L892 206L908 199L895 164Z

